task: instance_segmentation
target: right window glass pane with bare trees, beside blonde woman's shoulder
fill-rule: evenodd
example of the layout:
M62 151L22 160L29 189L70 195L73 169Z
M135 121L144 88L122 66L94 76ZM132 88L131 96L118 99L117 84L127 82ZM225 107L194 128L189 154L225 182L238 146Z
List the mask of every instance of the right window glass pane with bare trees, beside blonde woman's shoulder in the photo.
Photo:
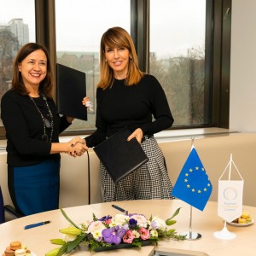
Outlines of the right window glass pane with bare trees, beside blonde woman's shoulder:
M207 120L206 0L150 1L150 73L166 91L174 125Z

